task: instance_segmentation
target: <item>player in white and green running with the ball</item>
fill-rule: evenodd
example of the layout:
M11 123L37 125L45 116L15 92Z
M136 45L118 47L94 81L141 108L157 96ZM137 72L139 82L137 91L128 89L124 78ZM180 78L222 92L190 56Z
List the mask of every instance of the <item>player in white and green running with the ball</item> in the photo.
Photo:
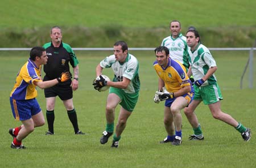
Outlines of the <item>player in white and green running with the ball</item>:
M114 71L113 81L106 81L101 75L104 68ZM139 63L137 58L128 53L128 46L125 41L117 41L114 44L114 54L106 57L96 67L96 76L99 80L94 80L94 89L100 89L106 85L110 86L106 103L106 130L100 139L101 144L108 142L109 137L114 132L115 107L121 105L118 123L115 127L112 147L117 148L121 139L121 134L125 130L127 119L134 110L139 97L141 83L139 81Z

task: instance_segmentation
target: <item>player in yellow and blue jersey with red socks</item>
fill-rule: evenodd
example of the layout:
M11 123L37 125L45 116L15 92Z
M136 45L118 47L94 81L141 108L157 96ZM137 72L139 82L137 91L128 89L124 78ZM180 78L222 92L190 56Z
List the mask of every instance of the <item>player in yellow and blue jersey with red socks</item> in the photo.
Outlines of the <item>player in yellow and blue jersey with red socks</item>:
M38 95L36 86L44 89L71 79L70 72L65 72L56 79L42 81L40 74L41 65L46 64L47 59L44 48L32 48L30 58L20 68L16 76L16 81L10 94L10 104L14 118L20 120L22 125L9 129L10 135L13 136L11 148L24 149L22 140L34 131L35 127L43 126L45 123L42 110L36 100Z

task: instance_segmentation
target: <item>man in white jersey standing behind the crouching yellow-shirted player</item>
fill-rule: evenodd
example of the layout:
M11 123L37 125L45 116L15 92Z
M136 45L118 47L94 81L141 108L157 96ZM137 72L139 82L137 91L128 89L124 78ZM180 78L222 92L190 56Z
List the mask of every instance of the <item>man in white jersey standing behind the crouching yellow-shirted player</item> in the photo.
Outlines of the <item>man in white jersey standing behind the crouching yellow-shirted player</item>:
M186 37L181 34L181 24L178 20L172 20L170 23L171 36L163 39L162 46L166 46L170 50L171 59L181 62L188 71L188 45Z

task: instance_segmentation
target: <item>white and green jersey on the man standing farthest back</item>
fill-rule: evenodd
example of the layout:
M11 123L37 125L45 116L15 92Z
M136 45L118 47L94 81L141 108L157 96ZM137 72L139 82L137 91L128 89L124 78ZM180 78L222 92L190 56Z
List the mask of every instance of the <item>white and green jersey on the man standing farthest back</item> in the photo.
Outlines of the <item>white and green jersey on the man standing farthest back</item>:
M166 46L170 50L171 59L181 62L186 70L188 70L188 45L185 36L182 36L181 33L177 38L172 38L172 35L168 36L164 38L161 45Z

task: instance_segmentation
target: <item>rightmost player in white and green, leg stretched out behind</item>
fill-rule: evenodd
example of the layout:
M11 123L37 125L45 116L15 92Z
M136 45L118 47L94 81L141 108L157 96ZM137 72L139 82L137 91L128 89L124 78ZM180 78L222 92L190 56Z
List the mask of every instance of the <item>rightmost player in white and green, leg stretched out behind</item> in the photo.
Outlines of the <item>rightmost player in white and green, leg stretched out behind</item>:
M223 98L216 76L214 75L214 72L217 70L217 65L212 54L206 46L200 43L200 35L195 29L188 30L186 37L187 44L190 47L188 50L190 55L188 75L192 74L194 76L195 95L191 104L184 109L185 115L187 115L187 118L191 118L196 107L203 101L205 105L209 106L213 118L233 126L241 133L243 140L249 141L251 138L250 128L244 127L232 116L221 111L220 100ZM191 118L189 120L193 119ZM198 121L194 120L191 126L196 128ZM192 135L192 138L197 137L196 135Z

